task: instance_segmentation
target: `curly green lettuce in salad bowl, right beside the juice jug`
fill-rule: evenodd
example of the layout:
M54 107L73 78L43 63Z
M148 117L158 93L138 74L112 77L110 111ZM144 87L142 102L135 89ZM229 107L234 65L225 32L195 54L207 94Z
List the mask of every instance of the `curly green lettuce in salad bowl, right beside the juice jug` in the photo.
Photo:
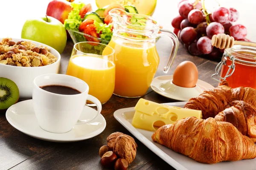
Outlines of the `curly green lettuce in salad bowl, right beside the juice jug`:
M111 30L112 25L109 24L103 24L98 23L97 21L94 21L94 25L96 26L96 32L99 34L99 37L102 40L110 41L113 35L113 32Z

